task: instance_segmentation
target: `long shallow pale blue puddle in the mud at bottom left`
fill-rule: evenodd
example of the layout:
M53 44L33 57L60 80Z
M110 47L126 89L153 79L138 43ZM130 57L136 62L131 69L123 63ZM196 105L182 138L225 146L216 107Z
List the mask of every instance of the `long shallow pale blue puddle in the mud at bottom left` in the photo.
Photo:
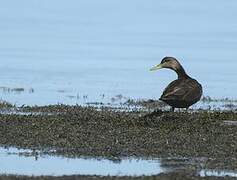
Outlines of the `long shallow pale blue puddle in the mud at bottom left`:
M18 175L101 175L141 176L165 172L159 160L65 158L42 155L36 158L31 150L0 148L0 173Z

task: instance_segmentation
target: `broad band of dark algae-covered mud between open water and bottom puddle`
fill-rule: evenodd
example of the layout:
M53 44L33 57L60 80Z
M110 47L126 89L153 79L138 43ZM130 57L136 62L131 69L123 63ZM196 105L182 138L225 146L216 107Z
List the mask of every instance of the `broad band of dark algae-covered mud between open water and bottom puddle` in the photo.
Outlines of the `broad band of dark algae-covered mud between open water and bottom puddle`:
M1 144L69 156L237 156L232 111L146 113L66 105L22 110L32 114L0 115Z

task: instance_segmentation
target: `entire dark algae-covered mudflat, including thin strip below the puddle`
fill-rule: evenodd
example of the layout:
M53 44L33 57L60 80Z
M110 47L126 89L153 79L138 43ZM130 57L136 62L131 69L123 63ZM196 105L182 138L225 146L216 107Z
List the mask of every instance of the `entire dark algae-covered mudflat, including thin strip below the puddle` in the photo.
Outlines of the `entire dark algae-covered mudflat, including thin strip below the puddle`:
M31 150L30 153L22 152L21 156L32 156L36 161L43 156L108 159L117 164L129 158L159 159L162 171L157 165L157 170L151 171L150 175L145 173L146 176L126 178L169 179L173 176L180 179L215 179L218 172L220 176L233 176L227 179L236 177L237 113L233 109L169 112L162 108L146 111L145 108L122 110L80 105L17 108L7 103L2 104L2 109L1 146ZM60 178L94 178L87 174L72 175Z

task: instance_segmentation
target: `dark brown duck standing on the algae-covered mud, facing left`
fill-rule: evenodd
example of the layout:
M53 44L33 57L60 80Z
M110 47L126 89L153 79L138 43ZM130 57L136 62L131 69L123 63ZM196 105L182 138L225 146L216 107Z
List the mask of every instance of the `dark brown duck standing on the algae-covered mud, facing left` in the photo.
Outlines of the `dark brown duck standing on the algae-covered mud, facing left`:
M175 108L188 108L197 103L202 97L202 85L194 78L191 78L184 70L180 62L174 57L164 57L161 63L153 66L150 71L159 69L171 69L176 72L177 79L172 81L163 91L159 100Z

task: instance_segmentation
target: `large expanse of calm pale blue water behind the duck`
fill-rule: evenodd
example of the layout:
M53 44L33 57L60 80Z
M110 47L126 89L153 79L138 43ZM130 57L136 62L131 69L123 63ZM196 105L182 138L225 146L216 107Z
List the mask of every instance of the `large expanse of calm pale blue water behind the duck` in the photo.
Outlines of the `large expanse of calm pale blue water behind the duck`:
M205 95L237 98L236 9L236 0L3 1L0 97L18 105L158 98L176 75L149 68L169 55Z

